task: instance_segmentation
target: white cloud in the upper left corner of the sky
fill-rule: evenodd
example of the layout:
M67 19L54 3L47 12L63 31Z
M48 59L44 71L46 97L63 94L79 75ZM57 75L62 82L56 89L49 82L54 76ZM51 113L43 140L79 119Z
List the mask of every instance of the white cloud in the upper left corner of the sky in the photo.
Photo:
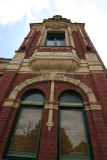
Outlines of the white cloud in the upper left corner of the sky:
M50 0L0 0L0 23L12 24L24 16L32 21L36 18L36 12L43 9L50 9Z

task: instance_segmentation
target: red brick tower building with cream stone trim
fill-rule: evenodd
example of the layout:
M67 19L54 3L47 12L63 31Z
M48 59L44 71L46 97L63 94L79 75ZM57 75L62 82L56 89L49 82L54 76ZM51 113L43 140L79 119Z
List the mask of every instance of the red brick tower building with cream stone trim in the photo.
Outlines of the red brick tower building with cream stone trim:
M107 160L106 68L84 25L32 23L0 59L0 159Z

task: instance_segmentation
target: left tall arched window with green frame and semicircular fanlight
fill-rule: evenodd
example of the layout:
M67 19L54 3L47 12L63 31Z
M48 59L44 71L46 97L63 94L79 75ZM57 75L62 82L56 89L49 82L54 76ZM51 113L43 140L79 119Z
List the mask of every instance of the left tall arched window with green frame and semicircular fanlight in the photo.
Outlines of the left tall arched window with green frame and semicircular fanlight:
M37 159L45 95L40 90L29 90L21 100L6 158Z

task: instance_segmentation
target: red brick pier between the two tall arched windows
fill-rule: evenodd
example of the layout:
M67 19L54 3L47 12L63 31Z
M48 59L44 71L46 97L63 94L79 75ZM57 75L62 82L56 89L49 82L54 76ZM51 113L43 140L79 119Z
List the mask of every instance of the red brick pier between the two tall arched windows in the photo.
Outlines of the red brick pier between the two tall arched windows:
M58 110L53 112L53 127L48 131L46 123L48 121L48 109L44 111L39 160L57 160L57 134L58 134Z

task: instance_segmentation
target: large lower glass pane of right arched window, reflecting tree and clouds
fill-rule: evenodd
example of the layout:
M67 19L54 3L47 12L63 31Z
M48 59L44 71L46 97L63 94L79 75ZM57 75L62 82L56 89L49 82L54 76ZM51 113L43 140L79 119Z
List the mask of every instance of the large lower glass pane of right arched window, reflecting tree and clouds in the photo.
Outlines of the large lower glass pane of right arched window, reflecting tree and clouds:
M88 155L81 111L61 110L61 155Z

